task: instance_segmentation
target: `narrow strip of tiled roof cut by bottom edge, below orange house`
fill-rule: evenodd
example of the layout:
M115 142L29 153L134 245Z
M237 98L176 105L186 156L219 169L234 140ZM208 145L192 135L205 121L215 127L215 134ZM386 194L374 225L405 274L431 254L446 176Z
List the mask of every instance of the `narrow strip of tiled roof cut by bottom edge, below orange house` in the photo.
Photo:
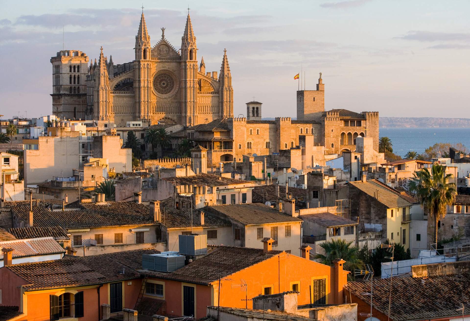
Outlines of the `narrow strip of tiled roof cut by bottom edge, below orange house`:
M208 306L209 309L217 310L217 306ZM307 318L294 313L287 313L283 311L263 311L243 308L230 308L220 306L219 311L234 315L234 320L238 320L236 316L241 317L240 320L279 320L279 321L301 321L301 320L315 320ZM217 318L216 318L217 319ZM202 319L204 320L204 318Z

